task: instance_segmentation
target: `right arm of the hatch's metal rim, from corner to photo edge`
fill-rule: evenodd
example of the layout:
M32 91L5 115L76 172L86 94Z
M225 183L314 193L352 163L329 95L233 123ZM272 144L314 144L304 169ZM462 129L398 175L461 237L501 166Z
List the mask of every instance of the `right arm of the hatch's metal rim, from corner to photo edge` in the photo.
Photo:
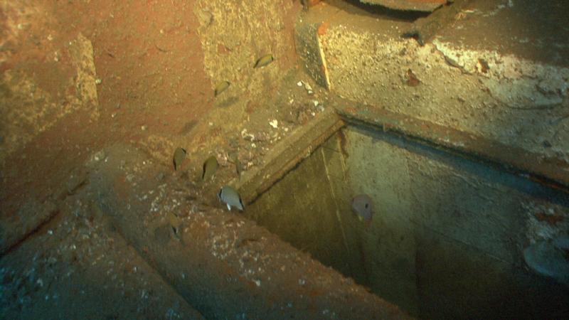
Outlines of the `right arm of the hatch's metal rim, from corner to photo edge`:
M569 164L563 159L340 97L335 97L330 104L346 125L392 132L569 195Z

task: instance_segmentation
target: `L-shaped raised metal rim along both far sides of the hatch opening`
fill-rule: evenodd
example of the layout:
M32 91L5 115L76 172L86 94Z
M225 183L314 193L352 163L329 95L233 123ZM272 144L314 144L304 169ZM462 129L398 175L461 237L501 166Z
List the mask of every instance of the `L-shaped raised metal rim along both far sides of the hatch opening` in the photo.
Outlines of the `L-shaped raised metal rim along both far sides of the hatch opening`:
M398 134L569 195L569 164L561 159L341 97L332 97L324 112L273 146L262 166L246 171L230 184L240 190L244 203L252 203L346 125Z

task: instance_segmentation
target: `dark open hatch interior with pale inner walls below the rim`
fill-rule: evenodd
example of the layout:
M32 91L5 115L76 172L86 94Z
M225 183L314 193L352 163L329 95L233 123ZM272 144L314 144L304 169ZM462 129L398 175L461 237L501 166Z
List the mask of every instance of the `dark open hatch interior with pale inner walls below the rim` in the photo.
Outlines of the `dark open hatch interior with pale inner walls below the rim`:
M359 194L373 199L371 223L351 210ZM568 208L564 194L519 176L349 127L245 214L415 316L521 319L569 314L567 287L522 254L566 233L539 216Z

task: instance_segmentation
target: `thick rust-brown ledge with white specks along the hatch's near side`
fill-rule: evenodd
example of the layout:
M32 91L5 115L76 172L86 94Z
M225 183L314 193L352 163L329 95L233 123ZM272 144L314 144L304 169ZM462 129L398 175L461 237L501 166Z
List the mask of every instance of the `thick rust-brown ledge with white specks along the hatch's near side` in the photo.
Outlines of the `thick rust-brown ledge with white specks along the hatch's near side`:
M246 319L409 319L242 215L188 210L196 199L188 198L184 181L156 181L165 168L143 152L119 144L105 153L107 161L92 166L96 205L206 319L236 313ZM181 222L176 235L167 215Z

